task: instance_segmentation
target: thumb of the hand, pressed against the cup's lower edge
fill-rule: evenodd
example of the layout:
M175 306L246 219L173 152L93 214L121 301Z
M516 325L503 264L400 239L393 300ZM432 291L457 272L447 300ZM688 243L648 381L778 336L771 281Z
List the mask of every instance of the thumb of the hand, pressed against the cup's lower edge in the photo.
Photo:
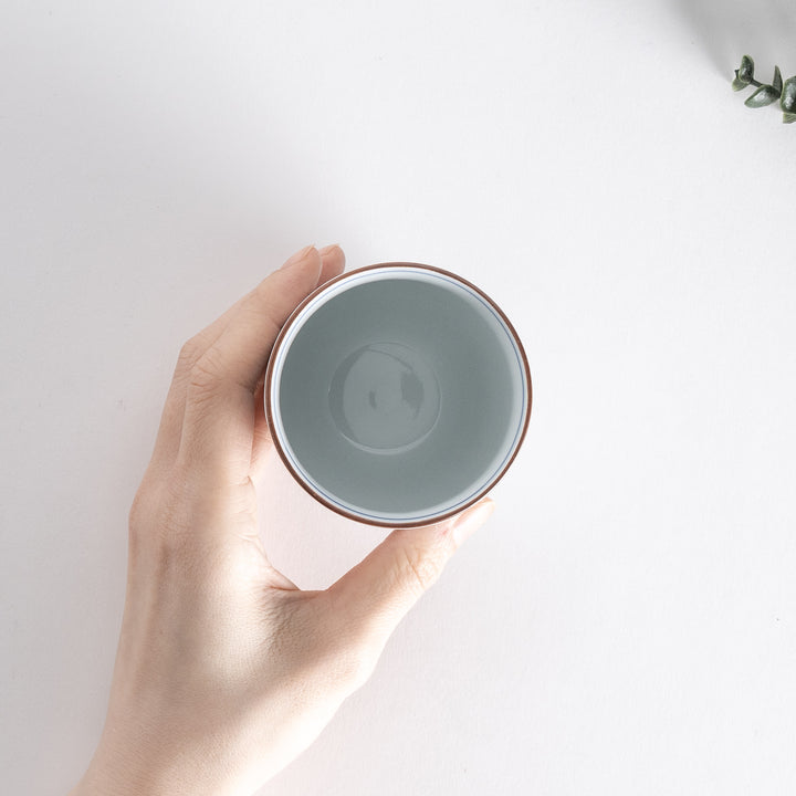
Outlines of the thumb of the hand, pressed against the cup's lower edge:
M492 514L484 498L436 525L394 531L367 558L329 587L348 632L365 642L387 642L400 620L437 582L453 553Z

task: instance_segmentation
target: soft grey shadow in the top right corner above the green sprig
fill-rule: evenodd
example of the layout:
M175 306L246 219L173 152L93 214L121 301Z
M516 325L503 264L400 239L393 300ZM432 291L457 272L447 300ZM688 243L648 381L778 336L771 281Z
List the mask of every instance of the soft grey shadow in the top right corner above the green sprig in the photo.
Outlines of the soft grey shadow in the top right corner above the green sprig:
M766 70L778 63L783 76L796 73L794 0L673 0L673 6L727 80L744 54Z

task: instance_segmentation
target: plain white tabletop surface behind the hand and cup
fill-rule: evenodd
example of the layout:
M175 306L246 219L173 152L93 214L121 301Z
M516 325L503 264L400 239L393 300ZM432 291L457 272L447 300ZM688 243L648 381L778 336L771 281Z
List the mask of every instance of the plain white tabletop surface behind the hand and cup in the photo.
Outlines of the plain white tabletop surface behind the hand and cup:
M499 509L264 793L796 790L793 3L4 2L0 788L105 711L180 344L305 243L460 272L522 336ZM745 95L745 94L744 94ZM274 462L272 557L380 534Z

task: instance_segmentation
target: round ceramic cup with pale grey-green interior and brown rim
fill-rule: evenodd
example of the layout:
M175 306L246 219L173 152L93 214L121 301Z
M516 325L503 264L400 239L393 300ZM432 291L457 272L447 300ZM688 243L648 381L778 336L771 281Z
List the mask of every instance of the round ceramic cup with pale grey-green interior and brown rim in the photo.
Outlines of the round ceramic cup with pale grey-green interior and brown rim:
M265 416L293 478L353 520L458 514L503 476L531 416L531 373L498 305L418 263L344 273L293 312L265 373Z

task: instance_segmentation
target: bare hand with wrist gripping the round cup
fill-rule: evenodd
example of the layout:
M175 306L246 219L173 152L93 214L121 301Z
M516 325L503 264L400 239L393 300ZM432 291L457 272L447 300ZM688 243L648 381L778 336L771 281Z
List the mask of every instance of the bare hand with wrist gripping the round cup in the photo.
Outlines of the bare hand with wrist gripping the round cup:
M298 252L182 347L129 514L127 594L105 727L73 796L250 794L369 677L390 633L492 501L392 532L325 591L271 566L256 485L263 371L339 247Z

